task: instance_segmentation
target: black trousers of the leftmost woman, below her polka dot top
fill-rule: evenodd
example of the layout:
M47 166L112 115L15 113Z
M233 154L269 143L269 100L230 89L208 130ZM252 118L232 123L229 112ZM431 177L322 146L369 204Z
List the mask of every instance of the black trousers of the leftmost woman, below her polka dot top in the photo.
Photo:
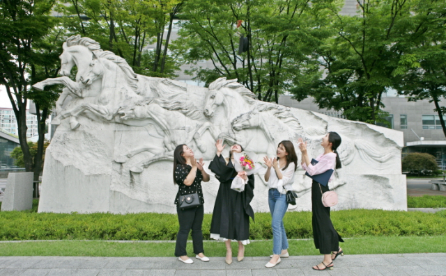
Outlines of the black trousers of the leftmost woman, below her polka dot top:
M204 208L203 205L181 210L176 206L176 213L178 213L178 222L180 223L180 230L176 234L175 256L186 256L187 236L192 229L192 243L194 244L194 253L204 253L203 250L203 232L201 232L201 225L203 225Z

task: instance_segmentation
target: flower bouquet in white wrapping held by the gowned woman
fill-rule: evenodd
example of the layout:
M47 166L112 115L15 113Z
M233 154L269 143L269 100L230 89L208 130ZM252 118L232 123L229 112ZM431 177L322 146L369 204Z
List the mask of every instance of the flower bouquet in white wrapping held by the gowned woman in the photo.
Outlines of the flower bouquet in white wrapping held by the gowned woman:
M257 155L253 153L240 152L233 153L234 156L234 168L236 172L246 172L247 175L254 174L263 169L261 163L254 162L256 160ZM231 189L238 191L239 193L245 190L245 185L247 181L245 179L236 176L234 177Z

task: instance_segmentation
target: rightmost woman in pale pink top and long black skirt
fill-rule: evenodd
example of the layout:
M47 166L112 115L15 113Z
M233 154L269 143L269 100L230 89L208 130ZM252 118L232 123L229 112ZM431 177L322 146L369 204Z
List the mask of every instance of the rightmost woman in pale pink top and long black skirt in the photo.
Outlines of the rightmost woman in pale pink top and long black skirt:
M327 170L341 168L341 160L336 149L341 145L341 136L336 132L329 132L322 138L321 146L324 148L323 154L316 157L316 165L312 165L307 154L307 143L299 138L299 148L302 152L302 168L310 175L321 174ZM332 181L330 177L330 181ZM344 255L344 251L339 247L339 242L344 242L333 227L330 219L330 207L322 204L322 193L330 190L313 180L312 184L312 210L313 210L313 238L316 249L324 255L322 263L313 266L314 270L333 269L333 261L338 255Z

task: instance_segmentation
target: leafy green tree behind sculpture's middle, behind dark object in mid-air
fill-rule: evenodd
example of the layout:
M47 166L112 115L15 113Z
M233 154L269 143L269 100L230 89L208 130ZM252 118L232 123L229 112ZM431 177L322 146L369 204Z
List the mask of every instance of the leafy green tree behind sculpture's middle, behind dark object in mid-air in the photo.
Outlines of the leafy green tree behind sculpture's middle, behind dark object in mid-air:
M338 1L187 1L171 49L193 65L188 73L195 79L238 79L259 99L277 102L293 79L317 72L311 54L328 35L321 25L331 10L339 10ZM238 54L241 35L249 47ZM213 68L197 67L199 60L211 60Z

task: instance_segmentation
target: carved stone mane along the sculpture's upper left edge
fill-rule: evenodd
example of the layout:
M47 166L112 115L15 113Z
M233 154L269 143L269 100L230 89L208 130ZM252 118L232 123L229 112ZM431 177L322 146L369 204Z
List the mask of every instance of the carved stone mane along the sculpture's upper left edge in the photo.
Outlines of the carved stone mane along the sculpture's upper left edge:
M134 71L127 61L121 56L116 56L112 51L103 51L100 49L100 44L91 38L81 38L80 35L72 35L67 38L67 47L79 45L84 46L93 52L97 58L106 58L107 60L112 60L116 65L118 65L124 72L125 81L128 85L135 91L138 90L138 76L134 74Z

